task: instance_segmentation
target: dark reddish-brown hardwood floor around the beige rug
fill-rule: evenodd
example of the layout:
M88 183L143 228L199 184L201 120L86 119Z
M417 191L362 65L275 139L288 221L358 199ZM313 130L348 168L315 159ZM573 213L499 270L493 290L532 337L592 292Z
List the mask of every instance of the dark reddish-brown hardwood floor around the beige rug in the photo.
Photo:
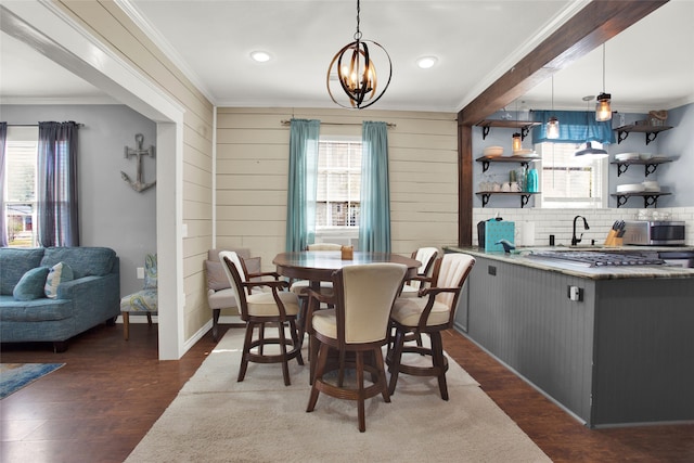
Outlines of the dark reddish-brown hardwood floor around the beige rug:
M220 331L226 331L222 326ZM555 462L694 462L694 424L589 429L464 336L445 348ZM156 330L98 326L67 351L4 344L2 362L65 362L0 401L0 461L121 462L147 433L215 343L208 334L181 360L157 360ZM453 403L451 403L453 406Z

